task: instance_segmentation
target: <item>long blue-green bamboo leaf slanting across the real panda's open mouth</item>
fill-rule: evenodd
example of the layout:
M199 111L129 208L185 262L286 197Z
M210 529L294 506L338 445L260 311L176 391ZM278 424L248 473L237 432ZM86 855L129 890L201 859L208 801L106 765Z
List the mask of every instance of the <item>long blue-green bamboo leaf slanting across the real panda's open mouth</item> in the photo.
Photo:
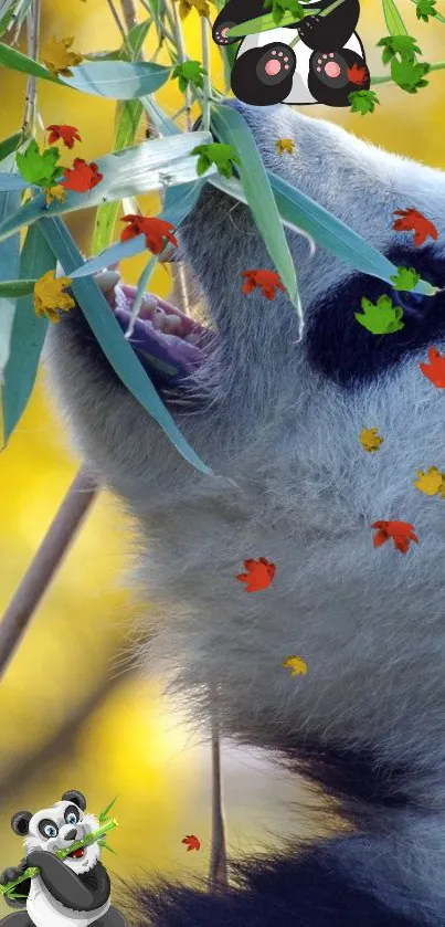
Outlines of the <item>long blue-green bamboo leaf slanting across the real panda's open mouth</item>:
M64 272L72 277L72 272L82 264L82 255L63 221L61 219L46 219L38 228L42 229ZM158 422L184 460L201 473L211 473L212 471L186 441L170 412L165 407L150 378L125 339L119 324L113 313L109 312L108 303L95 281L91 278L73 280L72 288L89 327L121 382L149 415Z

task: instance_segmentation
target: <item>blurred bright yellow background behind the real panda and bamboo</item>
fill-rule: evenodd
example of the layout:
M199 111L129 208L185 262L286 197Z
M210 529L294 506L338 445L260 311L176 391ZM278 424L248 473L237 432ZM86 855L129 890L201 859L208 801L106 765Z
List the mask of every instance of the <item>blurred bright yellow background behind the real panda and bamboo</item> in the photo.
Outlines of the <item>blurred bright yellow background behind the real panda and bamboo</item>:
M117 3L118 6L118 3ZM445 25L415 19L410 0L399 0L410 33L425 59L443 56ZM443 4L442 4L443 6ZM383 73L375 42L386 30L379 0L362 0L361 36L371 71ZM441 8L445 12L445 7ZM212 10L212 12L214 12ZM139 6L140 20L145 13ZM87 53L120 44L105 0L42 0L42 43L51 35L75 36L73 48ZM200 57L199 17L184 23L186 46ZM148 35L145 50L153 53ZM168 63L160 55L159 63ZM220 88L223 73L212 49L212 76ZM0 72L0 138L22 120L25 77ZM445 73L431 75L430 86L409 96L392 85L377 87L381 106L362 117L345 110L305 107L357 135L425 164L445 165ZM172 115L182 105L177 82L157 95ZM44 125L75 125L83 138L75 154L87 160L112 149L115 104L54 84L39 83ZM138 138L144 137L141 124ZM67 162L71 162L67 159ZM147 199L148 202L148 199ZM142 201L142 208L146 203ZM93 217L71 220L80 245L88 251ZM123 273L131 283L146 257L131 259ZM170 281L159 267L150 284L167 295ZM51 397L39 381L33 399L0 460L0 605L10 601L78 467L51 411ZM112 876L146 870L189 879L205 875L210 852L210 749L193 740L172 707L159 698L156 680L124 672L135 607L119 584L125 539L130 526L103 495L45 596L0 686L0 870L21 856L20 840L10 830L11 814L57 800L68 788L83 791L98 813L118 794L119 829L104 854ZM120 662L119 662L120 661ZM231 853L255 850L306 826L289 802L300 792L295 782L264 758L224 745L223 776ZM199 853L187 853L181 840L194 833ZM106 858L105 858L106 857ZM0 916L7 912L0 902Z

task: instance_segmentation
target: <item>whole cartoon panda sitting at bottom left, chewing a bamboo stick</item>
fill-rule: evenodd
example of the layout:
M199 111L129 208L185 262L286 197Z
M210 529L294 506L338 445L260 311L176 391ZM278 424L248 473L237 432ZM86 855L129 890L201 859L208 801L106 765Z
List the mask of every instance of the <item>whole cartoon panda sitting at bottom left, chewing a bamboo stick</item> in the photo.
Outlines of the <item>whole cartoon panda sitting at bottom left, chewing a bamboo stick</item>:
M14 882L29 866L40 873L20 883L17 893L22 899L10 899L11 907L22 908L8 915L1 924L8 927L126 927L126 921L110 904L110 883L99 861L98 843L73 851L64 860L55 853L96 831L99 822L86 813L82 792L71 790L51 808L18 811L11 826L24 838L25 858L9 866L0 875L0 884ZM25 906L25 910L23 907Z

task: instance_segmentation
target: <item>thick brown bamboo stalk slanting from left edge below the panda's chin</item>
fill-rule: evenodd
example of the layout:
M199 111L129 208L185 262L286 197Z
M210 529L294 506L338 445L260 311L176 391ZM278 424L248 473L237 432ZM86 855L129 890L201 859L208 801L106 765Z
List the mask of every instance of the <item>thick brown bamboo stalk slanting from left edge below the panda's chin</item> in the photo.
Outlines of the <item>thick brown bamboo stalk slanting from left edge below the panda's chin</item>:
M96 494L97 486L86 471L81 470L0 624L0 678Z

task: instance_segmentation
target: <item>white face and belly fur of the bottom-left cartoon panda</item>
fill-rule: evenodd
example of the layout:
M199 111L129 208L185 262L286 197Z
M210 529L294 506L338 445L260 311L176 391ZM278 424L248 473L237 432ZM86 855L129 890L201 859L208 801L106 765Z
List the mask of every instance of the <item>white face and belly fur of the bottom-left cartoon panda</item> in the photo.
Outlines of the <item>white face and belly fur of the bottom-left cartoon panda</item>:
M73 824L65 821L65 812L73 807L72 801L57 801L51 808L42 808L36 811L29 824L29 833L24 839L27 855L33 850L44 850L46 853L55 854L57 850L66 850L66 835L73 830ZM93 833L100 825L94 814L87 814L75 809L78 814L78 822L75 824L76 840L82 840L86 834ZM52 821L56 825L56 836L45 839L39 831L39 824L43 821ZM84 847L83 856L74 858L65 857L64 865L73 870L76 875L89 872L98 862L100 847L97 842ZM31 879L30 892L27 900L27 910L35 927L88 927L102 917L110 906L110 898L96 910L78 912L64 907L50 894L42 878L36 875Z

